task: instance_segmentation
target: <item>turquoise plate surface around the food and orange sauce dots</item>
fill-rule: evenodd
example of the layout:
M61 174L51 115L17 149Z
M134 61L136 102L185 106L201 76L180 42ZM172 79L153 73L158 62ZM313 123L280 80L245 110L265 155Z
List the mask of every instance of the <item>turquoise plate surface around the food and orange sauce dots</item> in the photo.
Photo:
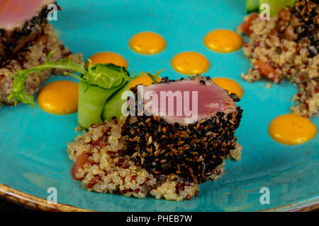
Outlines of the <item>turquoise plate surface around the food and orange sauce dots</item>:
M175 54L196 51L205 55L211 77L228 77L245 90L240 101L244 109L236 131L244 150L242 160L228 160L226 174L217 182L201 185L198 197L190 201L128 198L88 192L70 174L72 161L67 143L79 133L77 114L55 115L38 105L0 109L0 183L32 196L46 199L49 187L57 189L57 202L105 211L232 211L291 210L316 206L319 202L318 141L281 145L272 140L267 128L275 117L293 105L296 86L291 83L264 88L266 81L247 83L240 74L251 64L242 49L219 54L207 49L203 37L211 30L235 30L245 16L245 1L59 1L62 11L52 24L73 52L87 58L96 52L121 54L129 71L163 69L162 76L180 78L170 61ZM167 41L163 52L145 56L130 47L130 37L141 31L158 32ZM64 78L56 76L47 83ZM312 121L318 126L318 118ZM262 188L269 189L270 203L262 204ZM1 189L0 189L1 190Z

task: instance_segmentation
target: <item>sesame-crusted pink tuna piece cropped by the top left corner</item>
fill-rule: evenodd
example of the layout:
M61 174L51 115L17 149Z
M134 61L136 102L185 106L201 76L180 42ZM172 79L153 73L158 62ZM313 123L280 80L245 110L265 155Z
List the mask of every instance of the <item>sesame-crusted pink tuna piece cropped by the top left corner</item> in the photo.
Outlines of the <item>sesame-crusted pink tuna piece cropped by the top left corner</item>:
M0 68L43 35L47 5L52 3L55 0L0 1Z

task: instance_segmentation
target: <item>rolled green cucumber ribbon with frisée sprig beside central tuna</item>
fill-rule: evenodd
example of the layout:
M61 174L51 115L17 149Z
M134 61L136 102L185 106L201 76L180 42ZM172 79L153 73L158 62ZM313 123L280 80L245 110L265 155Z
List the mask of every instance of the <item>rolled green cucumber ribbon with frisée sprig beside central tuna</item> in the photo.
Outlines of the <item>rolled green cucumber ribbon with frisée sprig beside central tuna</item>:
M142 72L138 76L130 77L125 67L116 66L114 64L96 64L93 66L89 60L89 66L86 69L84 64L73 63L69 59L61 59L60 61L50 61L47 56L47 62L36 66L33 69L16 71L13 76L13 89L8 100L14 100L16 105L18 102L26 103L33 108L33 95L28 95L24 90L26 78L30 73L40 73L45 69L65 69L80 73L65 72L69 76L79 79L79 104L78 104L78 121L79 126L88 129L91 124L101 124L106 119L112 117L121 117L122 106L125 106L126 97L122 97L125 91L129 90L131 79L139 78L147 74L154 83L157 83L159 73L152 75L151 73Z

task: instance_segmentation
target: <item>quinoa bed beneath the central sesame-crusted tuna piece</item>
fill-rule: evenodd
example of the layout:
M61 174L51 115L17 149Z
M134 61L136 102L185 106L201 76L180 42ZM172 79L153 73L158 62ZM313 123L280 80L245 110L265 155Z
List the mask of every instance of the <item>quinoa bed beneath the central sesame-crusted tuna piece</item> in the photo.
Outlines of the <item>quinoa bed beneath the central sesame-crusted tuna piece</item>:
M74 160L72 173L89 191L110 192L144 198L181 201L198 196L199 185L185 181L177 174L154 175L142 168L139 162L127 155L125 136L121 129L125 119L92 125L89 131L69 143L67 153ZM237 145L235 150L237 150ZM240 155L238 152L237 156ZM213 170L210 179L223 175L225 162ZM74 170L76 169L76 170Z

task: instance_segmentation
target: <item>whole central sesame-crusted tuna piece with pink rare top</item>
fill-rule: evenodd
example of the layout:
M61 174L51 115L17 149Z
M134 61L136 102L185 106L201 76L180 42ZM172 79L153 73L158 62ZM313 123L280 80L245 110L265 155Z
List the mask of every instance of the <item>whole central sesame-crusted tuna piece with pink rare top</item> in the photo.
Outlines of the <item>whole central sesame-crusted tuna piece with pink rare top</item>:
M141 89L145 97L142 101L138 98ZM234 133L242 117L242 109L235 103L239 98L234 94L228 95L211 78L197 76L183 81L163 78L162 83L148 87L138 85L132 91L135 94L135 116L130 111L123 126L123 135L128 138L132 150L130 154L147 171L153 174L173 173L189 182L201 183L208 179L213 169L235 148L237 138ZM161 92L169 91L175 97L176 91L196 95L197 102L192 102L192 97L189 98L191 107L196 108L197 105L196 117L180 112L180 102L183 102L183 110L189 108L185 105L185 97L183 100L161 102ZM157 100L152 99L153 106L150 107L150 102L145 99L150 100L148 95L152 93L157 93L158 97ZM142 110L138 109L141 102L144 105ZM174 115L161 114L161 111L169 112L165 109L169 105L175 107ZM132 105L130 110L131 108ZM191 111L196 113L194 109Z

